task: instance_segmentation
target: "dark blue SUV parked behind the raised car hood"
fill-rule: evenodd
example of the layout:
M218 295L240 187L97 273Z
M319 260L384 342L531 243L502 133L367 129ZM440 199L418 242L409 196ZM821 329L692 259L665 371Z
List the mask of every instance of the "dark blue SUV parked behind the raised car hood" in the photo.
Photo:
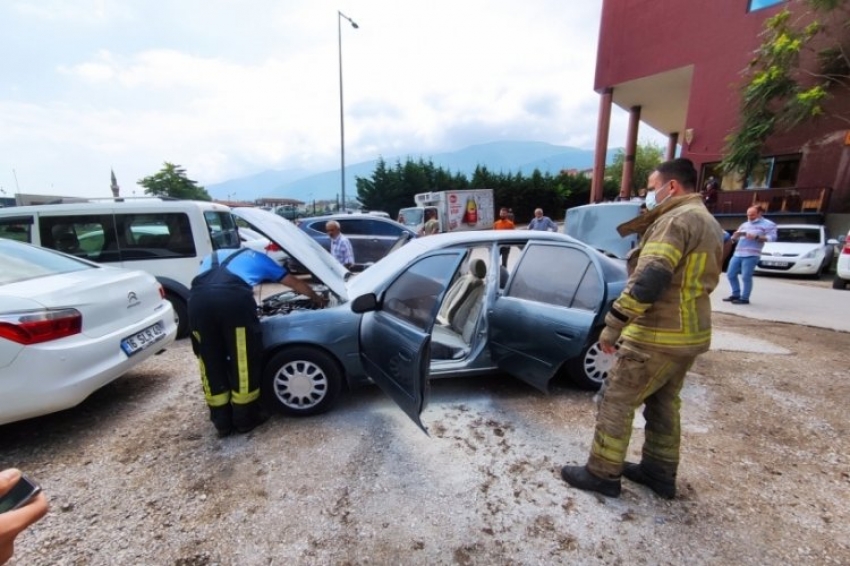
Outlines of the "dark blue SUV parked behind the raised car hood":
M390 248L404 237L416 237L407 226L389 218L373 214L330 214L304 218L298 227L304 230L326 250L331 249L331 239L325 232L325 224L329 220L339 222L342 234L351 240L354 248L354 261L358 264L374 263L387 255Z

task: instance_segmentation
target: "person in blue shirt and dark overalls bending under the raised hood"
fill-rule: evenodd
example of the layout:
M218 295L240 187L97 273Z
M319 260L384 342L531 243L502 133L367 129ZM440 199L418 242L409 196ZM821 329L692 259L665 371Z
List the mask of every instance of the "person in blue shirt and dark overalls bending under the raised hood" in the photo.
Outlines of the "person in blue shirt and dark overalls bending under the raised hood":
M267 416L260 407L263 337L254 285L280 282L316 305L324 299L286 268L247 248L204 258L189 293L192 350L198 357L210 420L219 437L246 433Z

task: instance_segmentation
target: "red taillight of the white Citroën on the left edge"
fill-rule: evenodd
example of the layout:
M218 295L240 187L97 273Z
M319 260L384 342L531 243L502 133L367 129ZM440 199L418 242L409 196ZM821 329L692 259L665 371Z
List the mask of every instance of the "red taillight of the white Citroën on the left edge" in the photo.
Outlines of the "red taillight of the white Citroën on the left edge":
M0 315L0 339L41 344L82 332L83 315L76 309L24 311Z

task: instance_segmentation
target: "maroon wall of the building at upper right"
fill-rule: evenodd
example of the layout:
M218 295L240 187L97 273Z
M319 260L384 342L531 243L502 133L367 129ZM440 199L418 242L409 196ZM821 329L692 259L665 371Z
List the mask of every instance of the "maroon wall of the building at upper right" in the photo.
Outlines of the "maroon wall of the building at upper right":
M783 5L748 13L747 0L604 0L595 89L616 91L618 84L693 65L683 127L693 128L694 141L681 154L698 169L719 161L738 122L741 72L760 44L764 20ZM831 111L850 115L850 97L837 97ZM830 211L850 212L847 130L836 119L811 121L769 140L765 155L802 152L797 185L832 187Z

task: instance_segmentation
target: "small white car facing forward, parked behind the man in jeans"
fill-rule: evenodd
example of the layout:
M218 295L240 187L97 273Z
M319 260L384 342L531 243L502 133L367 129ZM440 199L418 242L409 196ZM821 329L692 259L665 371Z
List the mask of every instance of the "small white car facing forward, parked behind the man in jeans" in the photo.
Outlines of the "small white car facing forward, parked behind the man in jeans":
M838 240L828 240L818 224L781 224L775 242L767 242L756 266L758 273L820 277L832 263Z

